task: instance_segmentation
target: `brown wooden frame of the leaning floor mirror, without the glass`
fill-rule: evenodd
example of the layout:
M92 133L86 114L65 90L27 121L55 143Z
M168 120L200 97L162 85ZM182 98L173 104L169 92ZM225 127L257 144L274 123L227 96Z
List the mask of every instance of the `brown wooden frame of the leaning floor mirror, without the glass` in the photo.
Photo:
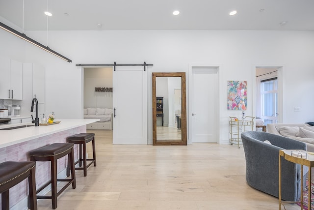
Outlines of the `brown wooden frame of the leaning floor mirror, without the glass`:
M153 72L153 145L187 145L186 137L186 90L185 72ZM181 141L158 140L157 141L157 101L156 101L156 77L181 77Z

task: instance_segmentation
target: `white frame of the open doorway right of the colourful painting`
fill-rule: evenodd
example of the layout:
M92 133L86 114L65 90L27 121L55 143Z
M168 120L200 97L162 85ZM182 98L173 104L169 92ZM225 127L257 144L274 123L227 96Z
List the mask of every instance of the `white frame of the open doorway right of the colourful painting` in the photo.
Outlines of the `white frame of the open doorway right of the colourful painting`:
M284 107L283 101L285 99L285 78L286 78L286 66L281 63L277 64L254 64L253 65L253 74L252 74L252 83L253 83L253 97L252 97L252 105L253 105L253 116L256 116L256 68L277 68L277 80L278 80L278 87L277 87L277 94L278 94L278 123L283 123L285 120L285 113L286 108Z

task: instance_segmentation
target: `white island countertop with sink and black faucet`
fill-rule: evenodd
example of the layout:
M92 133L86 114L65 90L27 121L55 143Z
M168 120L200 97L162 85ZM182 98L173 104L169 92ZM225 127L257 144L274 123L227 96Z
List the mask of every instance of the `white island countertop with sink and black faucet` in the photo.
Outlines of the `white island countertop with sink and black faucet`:
M86 125L92 122L99 121L99 119L58 119L58 124L30 126L25 128L18 128L12 130L0 130L0 148L11 146L14 144L26 142L35 138L47 136L53 133L58 133L71 128ZM0 129L7 127L16 127L20 125L34 124L34 123L19 123L13 125L1 125Z

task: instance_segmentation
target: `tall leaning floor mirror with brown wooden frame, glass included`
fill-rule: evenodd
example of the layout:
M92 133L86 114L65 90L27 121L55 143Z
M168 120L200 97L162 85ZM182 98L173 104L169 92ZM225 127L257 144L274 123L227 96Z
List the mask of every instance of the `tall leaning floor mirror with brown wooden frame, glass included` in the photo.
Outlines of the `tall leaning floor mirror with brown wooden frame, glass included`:
M187 145L185 72L153 72L153 145Z

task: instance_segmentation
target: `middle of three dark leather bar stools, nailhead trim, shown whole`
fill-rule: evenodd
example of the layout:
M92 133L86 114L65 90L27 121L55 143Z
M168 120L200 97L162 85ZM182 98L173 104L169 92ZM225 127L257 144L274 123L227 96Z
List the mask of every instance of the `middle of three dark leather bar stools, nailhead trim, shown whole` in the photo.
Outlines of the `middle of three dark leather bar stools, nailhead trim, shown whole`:
M74 168L74 150L73 143L54 143L45 147L29 152L31 161L50 161L51 162L51 180L40 187L36 193L42 191L51 183L51 196L37 195L38 199L52 199L52 209L57 208L57 196L59 196L70 184L76 188L75 168ZM71 167L71 179L57 179L57 159L68 154L68 162ZM57 181L67 181L68 183L57 191Z

